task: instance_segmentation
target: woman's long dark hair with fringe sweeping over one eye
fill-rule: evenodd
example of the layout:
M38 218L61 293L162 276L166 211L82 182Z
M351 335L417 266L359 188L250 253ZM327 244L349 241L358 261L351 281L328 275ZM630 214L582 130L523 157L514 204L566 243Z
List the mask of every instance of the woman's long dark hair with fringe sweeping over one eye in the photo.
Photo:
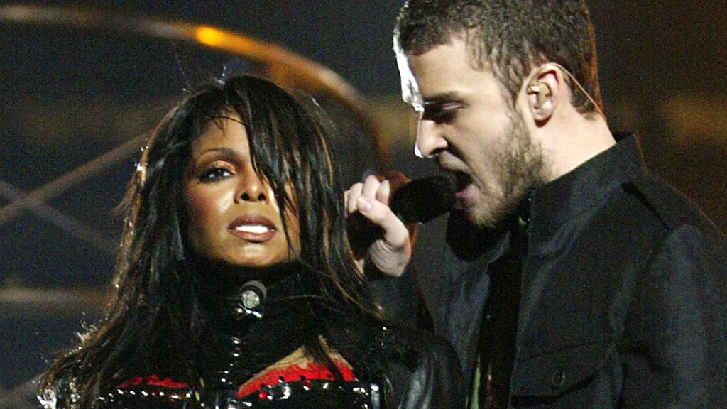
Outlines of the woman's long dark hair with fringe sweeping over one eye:
M254 167L270 183L281 212L297 209L298 261L310 271L316 295L341 317L378 317L348 245L330 122L312 98L264 79L214 80L186 92L150 132L124 199L111 301L80 345L52 365L41 394L73 382L78 407L93 408L103 390L149 365L174 368L180 381L196 385L204 317L185 244L183 178L193 141L210 122L231 114L246 127ZM314 359L331 363L320 339L304 346Z

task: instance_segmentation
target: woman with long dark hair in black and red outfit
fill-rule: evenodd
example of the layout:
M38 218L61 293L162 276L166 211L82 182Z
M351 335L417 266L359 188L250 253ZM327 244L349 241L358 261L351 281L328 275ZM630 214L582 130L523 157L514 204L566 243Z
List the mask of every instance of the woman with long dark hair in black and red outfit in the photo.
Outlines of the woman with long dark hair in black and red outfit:
M153 130L116 294L44 378L46 408L456 408L450 349L379 319L315 104L252 76Z

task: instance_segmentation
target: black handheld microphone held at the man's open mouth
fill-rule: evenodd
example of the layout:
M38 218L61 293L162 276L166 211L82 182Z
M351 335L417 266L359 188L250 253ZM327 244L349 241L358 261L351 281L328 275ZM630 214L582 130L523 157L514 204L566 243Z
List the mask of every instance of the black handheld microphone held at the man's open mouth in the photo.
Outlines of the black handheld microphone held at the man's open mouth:
M426 223L452 210L454 191L446 176L415 179L394 192L390 207L404 223Z

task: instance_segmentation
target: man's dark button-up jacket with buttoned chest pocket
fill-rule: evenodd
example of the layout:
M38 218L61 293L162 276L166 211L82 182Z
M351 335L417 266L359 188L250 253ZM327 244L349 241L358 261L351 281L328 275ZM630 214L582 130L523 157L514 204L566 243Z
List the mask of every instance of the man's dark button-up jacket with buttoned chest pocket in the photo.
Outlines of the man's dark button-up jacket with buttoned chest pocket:
M510 405L727 408L727 239L635 138L534 191L529 213ZM467 383L509 240L456 214L419 231L418 286Z

